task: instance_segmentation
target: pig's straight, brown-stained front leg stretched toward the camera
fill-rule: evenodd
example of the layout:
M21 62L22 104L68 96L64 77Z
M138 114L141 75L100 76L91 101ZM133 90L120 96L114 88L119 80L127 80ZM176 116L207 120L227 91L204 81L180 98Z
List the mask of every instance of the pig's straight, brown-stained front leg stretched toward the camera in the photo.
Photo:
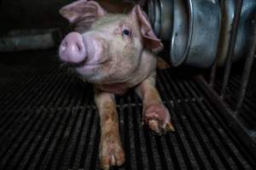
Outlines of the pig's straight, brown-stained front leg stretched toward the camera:
M100 114L101 142L99 148L102 169L120 166L125 161L125 153L119 136L118 113L114 95L96 90L96 106Z

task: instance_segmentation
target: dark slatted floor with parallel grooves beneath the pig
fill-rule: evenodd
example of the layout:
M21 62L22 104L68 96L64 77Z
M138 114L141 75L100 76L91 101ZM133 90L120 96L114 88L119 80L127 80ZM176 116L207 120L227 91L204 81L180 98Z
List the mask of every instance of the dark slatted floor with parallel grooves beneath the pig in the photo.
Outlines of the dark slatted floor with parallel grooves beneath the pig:
M0 169L99 169L92 87L60 68L54 52L24 55L32 57L0 62ZM162 70L157 79L175 133L154 135L142 125L137 96L117 97L126 161L113 169L255 169L255 155L226 126L200 82L175 75Z

